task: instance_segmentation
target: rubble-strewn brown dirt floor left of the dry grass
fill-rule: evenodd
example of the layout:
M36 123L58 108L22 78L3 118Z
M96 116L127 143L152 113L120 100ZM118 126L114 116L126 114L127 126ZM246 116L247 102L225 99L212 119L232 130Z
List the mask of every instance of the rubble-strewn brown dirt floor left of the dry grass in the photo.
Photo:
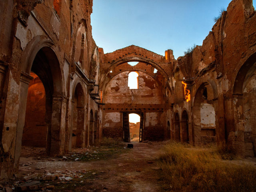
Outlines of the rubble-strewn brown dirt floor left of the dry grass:
M159 192L156 162L166 142L132 142L134 148L102 146L76 149L50 158L44 148L22 148L17 191Z

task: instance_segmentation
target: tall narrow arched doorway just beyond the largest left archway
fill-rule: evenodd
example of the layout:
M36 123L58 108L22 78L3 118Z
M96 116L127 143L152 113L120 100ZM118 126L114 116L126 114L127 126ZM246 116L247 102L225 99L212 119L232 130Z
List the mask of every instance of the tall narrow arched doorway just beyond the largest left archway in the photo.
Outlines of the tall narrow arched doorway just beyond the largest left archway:
M81 83L76 85L73 97L72 148L85 146L84 90Z

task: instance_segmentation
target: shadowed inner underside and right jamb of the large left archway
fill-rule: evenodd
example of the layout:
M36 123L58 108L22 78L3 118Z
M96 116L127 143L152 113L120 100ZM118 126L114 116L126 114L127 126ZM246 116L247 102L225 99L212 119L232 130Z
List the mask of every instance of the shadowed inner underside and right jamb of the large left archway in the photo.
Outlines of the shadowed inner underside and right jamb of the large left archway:
M60 134L64 133L58 131L61 124L61 103L56 101L62 94L58 58L50 47L42 47L36 53L31 67L27 69L29 69L29 73L32 71L40 78L45 89L45 122L43 126L47 130L46 152L48 154L59 154L63 150L59 138Z

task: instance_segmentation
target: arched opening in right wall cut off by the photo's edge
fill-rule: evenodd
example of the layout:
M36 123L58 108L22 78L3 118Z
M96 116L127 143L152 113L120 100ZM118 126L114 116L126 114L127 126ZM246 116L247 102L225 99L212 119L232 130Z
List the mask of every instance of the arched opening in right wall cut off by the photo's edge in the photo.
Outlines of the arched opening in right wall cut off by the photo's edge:
M246 156L256 156L256 53L239 69L233 87L236 143Z

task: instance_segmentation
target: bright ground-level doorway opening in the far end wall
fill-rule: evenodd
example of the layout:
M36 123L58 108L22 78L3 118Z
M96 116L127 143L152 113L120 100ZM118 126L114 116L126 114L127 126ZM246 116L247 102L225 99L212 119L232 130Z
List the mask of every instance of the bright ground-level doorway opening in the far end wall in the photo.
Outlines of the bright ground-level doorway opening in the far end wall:
M130 140L139 142L140 139L140 116L135 113L129 114Z

